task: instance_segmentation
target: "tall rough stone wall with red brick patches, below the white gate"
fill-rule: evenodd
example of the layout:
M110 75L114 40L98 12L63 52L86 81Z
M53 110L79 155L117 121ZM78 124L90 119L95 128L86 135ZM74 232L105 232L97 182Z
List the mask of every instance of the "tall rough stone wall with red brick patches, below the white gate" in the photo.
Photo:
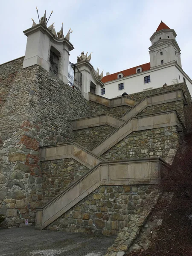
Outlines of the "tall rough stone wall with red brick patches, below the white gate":
M42 203L39 145L72 141L71 119L91 114L80 93L37 65L22 69L22 61L0 66L0 214L12 225L20 223L17 209L32 222Z

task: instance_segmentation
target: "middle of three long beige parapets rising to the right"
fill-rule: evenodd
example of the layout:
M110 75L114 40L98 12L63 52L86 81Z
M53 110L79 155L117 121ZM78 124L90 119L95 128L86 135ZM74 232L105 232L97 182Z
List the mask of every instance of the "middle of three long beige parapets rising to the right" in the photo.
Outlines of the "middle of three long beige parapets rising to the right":
M171 115L174 121L171 120ZM173 115L175 115L175 117L173 117ZM162 119L162 117L164 119ZM155 120L154 122L154 119L157 120ZM142 121L143 124L140 123ZM174 125L178 126L178 122L183 124L177 114L177 111L163 111L161 113L132 117L115 131L113 131L111 134L109 134L107 137L105 137L105 139L95 145L91 149L91 151L93 151L97 155L102 155L111 147L116 145L119 141L131 134L131 132L144 131Z

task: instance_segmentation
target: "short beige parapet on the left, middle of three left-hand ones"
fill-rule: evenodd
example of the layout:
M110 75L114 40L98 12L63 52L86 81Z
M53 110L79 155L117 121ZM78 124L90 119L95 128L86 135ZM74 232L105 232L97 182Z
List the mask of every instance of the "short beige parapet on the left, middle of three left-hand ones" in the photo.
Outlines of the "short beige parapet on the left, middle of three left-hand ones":
M125 121L113 116L111 114L102 114L97 116L88 116L80 119L76 119L72 121L73 131L80 130L90 127L96 127L101 125L110 125L114 128L118 128Z

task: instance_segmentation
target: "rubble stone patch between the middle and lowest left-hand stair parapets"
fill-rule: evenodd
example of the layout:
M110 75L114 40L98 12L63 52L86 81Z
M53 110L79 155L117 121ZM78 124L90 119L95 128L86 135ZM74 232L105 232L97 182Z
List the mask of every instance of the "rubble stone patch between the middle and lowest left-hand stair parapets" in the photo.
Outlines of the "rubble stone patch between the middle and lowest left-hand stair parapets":
M74 141L91 150L97 143L111 134L115 128L109 125L96 126L74 131Z

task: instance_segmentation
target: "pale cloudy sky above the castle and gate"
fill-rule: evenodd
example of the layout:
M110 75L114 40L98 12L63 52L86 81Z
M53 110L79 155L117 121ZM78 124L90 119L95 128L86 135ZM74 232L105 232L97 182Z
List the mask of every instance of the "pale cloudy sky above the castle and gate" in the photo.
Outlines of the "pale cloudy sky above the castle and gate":
M182 68L192 79L191 0L6 0L0 8L0 64L25 55L27 37L23 31L34 19L53 11L48 25L64 35L69 28L76 63L82 51L92 53L90 63L110 74L150 61L149 38L163 20L177 33Z

